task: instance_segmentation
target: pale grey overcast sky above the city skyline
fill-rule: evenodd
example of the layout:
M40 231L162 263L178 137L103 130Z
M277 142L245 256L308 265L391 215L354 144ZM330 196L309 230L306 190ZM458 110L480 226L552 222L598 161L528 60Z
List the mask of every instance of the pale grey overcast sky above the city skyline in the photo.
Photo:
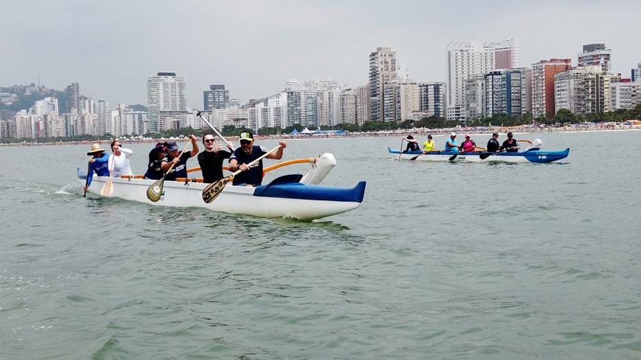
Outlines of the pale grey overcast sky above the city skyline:
M147 105L147 77L174 71L188 105L225 84L241 102L291 78L367 82L369 53L391 46L418 82L445 81L450 41L515 39L521 66L576 64L605 43L613 69L641 62L641 1L159 1L3 0L0 86L37 83L111 104Z

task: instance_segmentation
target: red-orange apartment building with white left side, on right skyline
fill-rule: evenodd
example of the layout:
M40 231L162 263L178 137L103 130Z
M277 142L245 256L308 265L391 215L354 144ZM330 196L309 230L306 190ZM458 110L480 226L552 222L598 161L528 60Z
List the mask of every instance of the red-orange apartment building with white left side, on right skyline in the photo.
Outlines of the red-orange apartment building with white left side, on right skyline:
M555 113L554 76L571 67L571 59L541 60L532 64L532 116Z

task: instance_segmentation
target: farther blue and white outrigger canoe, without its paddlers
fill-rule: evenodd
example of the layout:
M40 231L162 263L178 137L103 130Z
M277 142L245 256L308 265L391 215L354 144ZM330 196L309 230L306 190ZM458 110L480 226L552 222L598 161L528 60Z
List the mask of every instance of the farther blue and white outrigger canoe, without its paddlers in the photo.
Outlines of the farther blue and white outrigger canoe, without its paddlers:
M402 160L422 160L422 161L454 161L454 162L536 162L546 163L561 160L568 157L570 148L559 151L544 151L539 148L543 142L536 139L528 149L517 153L491 153L488 151L468 151L454 152L454 151L430 151L429 153L422 153L422 151L408 151L402 153L396 149L387 148L387 152L395 159ZM454 156L456 155L456 156Z

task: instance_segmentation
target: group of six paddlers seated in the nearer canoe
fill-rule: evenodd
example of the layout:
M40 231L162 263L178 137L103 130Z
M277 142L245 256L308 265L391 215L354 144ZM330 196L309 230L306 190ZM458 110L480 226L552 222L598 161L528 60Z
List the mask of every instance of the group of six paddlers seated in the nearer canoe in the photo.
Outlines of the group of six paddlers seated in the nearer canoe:
M187 160L197 156L198 166L203 173L203 182L211 183L223 179L223 162L227 159L230 171L239 171L233 178L234 185L257 186L263 180L263 162L259 158L265 155L265 158L280 160L283 156L283 149L287 147L286 142L281 141L277 148L268 151L263 146L254 145L254 135L246 131L239 135L241 146L238 149L234 149L230 142L225 144L229 151L223 150L222 144L216 144L212 133L203 134L202 142L205 150L202 152L199 152L197 140L195 135L190 135L189 142L185 144L182 151L179 151L179 146L175 141L156 143L149 151L149 162L144 178L150 180L164 178L169 181L187 178ZM189 144L192 145L192 149L186 151ZM119 139L112 140L110 148L111 155L106 153L99 143L95 143L87 152L91 158L89 159L85 191L91 186L94 173L96 176L111 177L133 175L129 162L133 151L124 148Z

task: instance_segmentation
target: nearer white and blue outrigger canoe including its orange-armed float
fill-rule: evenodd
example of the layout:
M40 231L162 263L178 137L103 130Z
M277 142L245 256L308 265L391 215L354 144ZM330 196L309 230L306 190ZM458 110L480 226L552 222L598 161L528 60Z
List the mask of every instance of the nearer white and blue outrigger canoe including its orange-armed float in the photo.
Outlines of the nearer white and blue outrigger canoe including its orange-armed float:
M203 201L203 189L207 183L203 183L202 178L178 178L176 181L165 181L160 200L152 202L147 198L146 193L149 185L156 180L143 179L141 175L122 176L112 179L112 196L151 205L203 207L230 214L301 220L325 218L360 206L365 194L364 181L351 189L318 185L336 165L336 160L331 153L324 153L319 158L281 162L272 167L266 167L264 171L268 172L302 162L311 164L311 169L304 176L300 174L281 176L269 184L258 187L240 187L228 183L220 196L209 204ZM199 170L200 168L194 168L189 169L188 172ZM77 172L78 181L84 186L86 173L82 173L80 168ZM100 195L100 189L108 179L108 176L94 175L88 192Z

